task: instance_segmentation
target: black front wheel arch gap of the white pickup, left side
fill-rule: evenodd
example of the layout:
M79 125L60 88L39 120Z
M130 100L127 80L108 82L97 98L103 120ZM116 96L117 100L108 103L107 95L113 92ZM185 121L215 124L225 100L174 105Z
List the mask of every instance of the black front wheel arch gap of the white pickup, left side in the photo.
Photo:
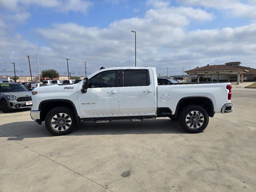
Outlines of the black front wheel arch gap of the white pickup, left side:
M41 122L45 120L45 117L50 110L56 107L61 107L61 106L70 108L75 114L76 122L79 122L80 117L78 116L76 106L71 100L68 100L68 99L49 99L49 100L44 100L40 102L38 106L38 110L40 110Z

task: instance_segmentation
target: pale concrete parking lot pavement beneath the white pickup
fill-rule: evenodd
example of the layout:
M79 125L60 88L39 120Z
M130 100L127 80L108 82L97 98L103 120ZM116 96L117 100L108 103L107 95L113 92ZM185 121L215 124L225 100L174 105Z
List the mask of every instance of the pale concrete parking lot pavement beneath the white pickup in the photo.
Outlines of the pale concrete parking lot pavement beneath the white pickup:
M169 118L80 122L52 136L29 111L0 112L0 192L256 191L256 89L199 134Z

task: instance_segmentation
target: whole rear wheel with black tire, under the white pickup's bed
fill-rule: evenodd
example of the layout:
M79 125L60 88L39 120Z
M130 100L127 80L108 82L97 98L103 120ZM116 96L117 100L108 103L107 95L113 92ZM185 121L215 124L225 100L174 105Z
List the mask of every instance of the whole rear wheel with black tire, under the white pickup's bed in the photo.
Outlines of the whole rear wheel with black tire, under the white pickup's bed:
M198 113L196 113L196 111L198 111ZM206 110L201 106L188 105L180 111L178 120L180 126L186 132L199 133L207 127L209 122L209 116Z

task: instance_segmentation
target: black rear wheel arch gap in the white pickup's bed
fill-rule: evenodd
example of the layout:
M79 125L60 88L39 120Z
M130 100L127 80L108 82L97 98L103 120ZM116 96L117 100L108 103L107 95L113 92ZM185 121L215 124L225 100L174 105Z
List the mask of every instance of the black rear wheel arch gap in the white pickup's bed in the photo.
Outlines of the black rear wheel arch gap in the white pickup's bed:
M181 98L176 106L174 117L178 118L178 114L182 108L187 105L199 105L203 107L210 117L215 114L212 99L208 96L188 96Z

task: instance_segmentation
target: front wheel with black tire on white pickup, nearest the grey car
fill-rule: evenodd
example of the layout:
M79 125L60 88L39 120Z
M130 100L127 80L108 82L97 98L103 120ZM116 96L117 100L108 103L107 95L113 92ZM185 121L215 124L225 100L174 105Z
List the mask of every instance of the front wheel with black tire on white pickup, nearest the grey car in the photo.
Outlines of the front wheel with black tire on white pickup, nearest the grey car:
M56 118L54 118L54 116L58 116L58 114L66 114L67 116L62 117L59 115L60 118L57 117L58 119L56 120ZM67 118L67 117L69 117L69 118ZM65 119L65 118L67 118L67 119ZM53 124L53 126L54 125L57 126L56 128L52 127L52 120L54 120L54 123L57 122L56 124ZM62 121L62 122L60 122L60 121ZM63 123L63 125L65 127L60 125L59 123ZM51 134L56 135L56 136L70 134L72 132L72 130L74 129L75 124L76 124L76 118L75 118L74 112L70 108L66 108L66 107L56 107L56 108L50 110L50 112L48 112L48 114L46 115L46 118L45 118L46 129ZM66 125L69 125L69 127ZM68 128L66 128L66 127L68 127ZM56 130L56 129L58 129L58 130Z

